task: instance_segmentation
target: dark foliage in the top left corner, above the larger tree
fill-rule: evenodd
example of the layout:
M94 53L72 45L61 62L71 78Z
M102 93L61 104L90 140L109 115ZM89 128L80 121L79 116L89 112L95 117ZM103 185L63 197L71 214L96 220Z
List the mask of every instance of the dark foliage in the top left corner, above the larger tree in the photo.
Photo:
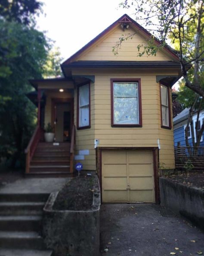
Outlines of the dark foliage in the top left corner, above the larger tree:
M1 0L0 17L6 21L15 21L25 25L31 23L34 15L41 10L38 0Z

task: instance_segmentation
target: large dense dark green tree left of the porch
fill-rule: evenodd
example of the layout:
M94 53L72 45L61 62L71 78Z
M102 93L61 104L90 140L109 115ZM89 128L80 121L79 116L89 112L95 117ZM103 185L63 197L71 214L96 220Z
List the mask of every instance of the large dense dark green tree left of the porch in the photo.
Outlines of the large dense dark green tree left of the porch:
M50 45L34 27L0 20L0 153L21 157L36 124L36 108L25 96L28 80L42 78Z

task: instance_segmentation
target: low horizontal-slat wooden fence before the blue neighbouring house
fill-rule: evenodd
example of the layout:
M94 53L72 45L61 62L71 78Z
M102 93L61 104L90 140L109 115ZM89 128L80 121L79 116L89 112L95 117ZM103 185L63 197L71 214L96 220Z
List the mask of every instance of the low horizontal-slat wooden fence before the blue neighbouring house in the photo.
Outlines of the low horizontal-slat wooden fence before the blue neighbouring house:
M193 164L193 170L204 171L204 147L175 147L176 169L183 169L188 160Z

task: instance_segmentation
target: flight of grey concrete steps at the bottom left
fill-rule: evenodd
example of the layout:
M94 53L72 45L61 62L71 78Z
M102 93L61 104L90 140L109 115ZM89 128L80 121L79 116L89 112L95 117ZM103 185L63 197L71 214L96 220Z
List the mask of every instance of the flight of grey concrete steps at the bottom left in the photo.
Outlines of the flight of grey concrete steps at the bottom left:
M43 206L48 196L0 194L0 256L51 256L40 235Z

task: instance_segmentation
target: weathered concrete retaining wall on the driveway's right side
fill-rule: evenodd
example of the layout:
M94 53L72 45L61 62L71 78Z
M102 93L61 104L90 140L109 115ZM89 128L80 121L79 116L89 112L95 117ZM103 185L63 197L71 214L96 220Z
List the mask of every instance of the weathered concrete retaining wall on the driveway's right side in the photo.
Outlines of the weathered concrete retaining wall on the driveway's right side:
M182 214L204 229L204 190L159 178L161 205Z

